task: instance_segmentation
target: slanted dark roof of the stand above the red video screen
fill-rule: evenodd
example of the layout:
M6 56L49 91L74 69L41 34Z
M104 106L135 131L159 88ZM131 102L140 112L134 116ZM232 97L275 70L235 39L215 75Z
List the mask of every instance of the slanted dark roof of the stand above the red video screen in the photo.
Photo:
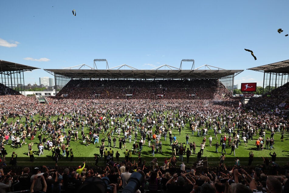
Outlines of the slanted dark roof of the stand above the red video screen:
M275 62L272 64L267 64L267 65L258 66L254 68L249 68L247 70L255 70L255 71L266 72L266 73L271 72L271 73L288 74L289 73L289 60Z

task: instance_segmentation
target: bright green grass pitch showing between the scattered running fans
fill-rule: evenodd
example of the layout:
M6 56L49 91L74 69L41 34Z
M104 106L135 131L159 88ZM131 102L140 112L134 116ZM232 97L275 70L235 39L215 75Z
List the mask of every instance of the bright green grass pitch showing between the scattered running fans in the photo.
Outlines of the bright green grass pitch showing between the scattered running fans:
M37 122L39 120L39 115L36 115L34 117L35 121ZM53 119L57 119L57 117L52 117L51 118L51 121ZM25 118L22 118L23 120L23 125L24 125L24 122L25 122ZM124 118L123 118L124 120ZM11 121L15 122L15 120L13 120L13 118L9 118L8 120L8 123L10 123ZM146 121L145 119L143 121ZM65 128L65 130L67 130ZM154 131L154 129L153 129ZM84 132L86 134L89 133L89 128L87 127L84 127ZM39 134L39 132L37 132L37 135ZM186 127L184 130L181 131L181 135L179 135L179 132L175 129L173 130L173 136L175 135L177 137L177 140L179 143L186 143L186 139L185 139L185 136L189 134L190 136L190 139L189 139L189 142L195 142L197 144L197 148L196 148L196 153L198 153L198 151L200 150L200 144L202 142L202 139L203 137L197 137L197 133L194 132L194 136L192 135L190 129L189 129L189 123L186 124ZM207 138L212 135L212 137L214 138L214 133L212 130L209 130L208 131L208 136ZM224 133L222 132L222 135ZM35 136L35 139L32 140L34 142L34 145L33 145L33 150L35 152L37 152L37 143L39 142L39 140L37 139L37 135ZM70 142L70 145L73 149L73 153L74 153L74 160L73 162L70 162L70 157L67 159L65 158L62 158L62 159L59 159L58 160L58 166L78 166L80 165L83 161L86 162L86 164L88 166L94 166L95 165L95 161L94 161L94 155L97 154L99 156L99 147L100 147L100 140L101 138L103 137L103 135L100 133L100 137L99 137L99 144L93 144L91 143L89 146L85 146L83 144L81 144L82 140L81 140L81 136L80 136L80 132L78 133L79 135L79 140L78 141L75 141L74 142L74 138L71 139L71 142ZM269 136L270 135L270 132L266 132L266 135ZM113 135L113 136L116 136L117 135ZM167 135L169 136L169 135ZM123 134L121 132L121 137L123 137ZM240 160L240 163L241 165L243 166L247 166L248 164L248 157L249 157L249 152L250 151L253 151L254 153L254 160L253 160L253 164L252 165L259 165L263 162L263 158L261 158L262 156L263 157L269 157L269 159L271 158L271 156L269 155L270 152L274 152L277 154L277 159L276 159L276 162L279 163L280 166L284 166L287 161L288 161L288 152L289 150L287 149L288 148L288 133L286 133L284 135L284 142L281 142L280 140L280 134L279 133L276 133L274 135L274 139L275 139L275 144L274 144L274 147L275 147L275 150L267 150L264 148L263 151L256 151L256 146L255 146L255 141L257 139L258 136L254 136L253 137L253 141L249 141L248 142L248 146L246 147L243 143L243 140L240 139L240 141L242 142L241 145L239 145L239 149L236 149L235 152L236 152L236 156L233 156L233 155L230 155L229 153L231 152L231 148L228 146L228 143L227 144L227 147L226 147L226 159L225 159L225 162L226 165L234 165L235 163L235 159L236 157L238 156L239 157L239 160ZM118 138L117 138L118 139ZM132 139L134 139L134 136L132 136ZM138 140L137 142L139 142L139 139L140 139L140 134L138 136ZM30 143L32 142L30 140L30 138L26 138L26 142ZM155 157L158 158L158 162L159 163L163 163L163 160L165 157L167 158L170 158L170 156L172 155L172 151L171 151L171 146L170 146L170 141L169 141L169 138L167 137L167 141L164 141L164 137L162 136L161 137L161 141L163 143L163 153L160 154L155 154ZM219 142L220 143L220 134L218 134L218 140L217 139L213 139L212 141L212 147L209 146L209 142L208 142L208 139L207 139L207 142L206 142L206 148L204 149L204 155L203 156L207 156L208 157L208 164L209 166L217 166L218 162L219 162L219 156L221 155L221 153L215 153L215 146L214 144L216 142ZM22 140L21 140L22 142ZM64 141L66 143L66 140ZM25 145L23 144L21 148L18 148L18 149L13 149L11 145L5 145L5 149L7 150L7 153L8 155L6 156L6 164L9 165L9 160L11 158L11 154L13 151L15 151L15 153L18 154L18 158L17 158L17 166L39 166L39 165L47 165L47 166L54 166L55 165L55 161L53 161L52 159L52 152L51 151L48 151L48 150L44 150L44 155L41 155L40 157L38 157L38 153L35 153L35 159L34 159L34 162L30 162L30 158L28 156L28 143ZM113 143L113 142L112 142ZM9 144L11 144L11 140L9 140ZM133 144L133 140L132 140L132 143L129 143L128 140L126 142L126 148L127 149L132 149L132 144ZM107 138L106 138L106 141L105 141L105 147L108 148L108 142L107 142ZM114 155L116 153L116 151L119 151L120 153L120 161L121 160L124 160L124 149L119 149L119 142L117 140L116 142L116 148L112 148L114 150ZM189 147L189 146L187 146ZM265 147L265 146L264 146ZM109 148L108 148L109 149ZM221 147L218 149L219 152L221 152ZM142 159L143 160L146 160L146 162L150 162L153 157L151 156L151 148L148 147L148 142L146 142L146 144L143 146L143 150L142 150ZM115 160L115 158L114 158ZM136 160L137 162L137 154L133 154L132 155L132 162ZM177 156L177 165L180 165L181 164L181 161L179 161L179 157ZM184 162L186 163L187 161L187 158L186 156L184 156L183 158ZM190 156L190 159L189 159L189 164L186 163L186 165L192 165L194 162L196 162L197 160L197 155L196 154L192 154ZM100 166L104 166L105 163L104 163L104 159L102 160L99 160L99 164Z

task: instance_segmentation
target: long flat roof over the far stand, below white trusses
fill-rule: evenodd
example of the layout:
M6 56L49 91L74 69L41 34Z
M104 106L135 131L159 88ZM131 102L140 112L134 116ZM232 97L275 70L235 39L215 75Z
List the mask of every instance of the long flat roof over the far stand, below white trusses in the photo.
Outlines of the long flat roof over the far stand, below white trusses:
M219 79L225 76L236 76L243 70L224 69L194 69L194 70L138 70L138 69L44 69L52 75L58 74L69 78L92 78L92 79L194 79L214 78Z

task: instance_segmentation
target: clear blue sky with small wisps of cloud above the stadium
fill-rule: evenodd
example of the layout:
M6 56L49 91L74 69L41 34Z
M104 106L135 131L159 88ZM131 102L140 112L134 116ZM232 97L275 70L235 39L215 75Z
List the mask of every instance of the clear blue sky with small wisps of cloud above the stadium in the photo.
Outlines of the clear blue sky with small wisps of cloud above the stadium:
M245 70L235 77L239 87L263 86L263 73L246 69L289 59L285 0L11 0L0 7L0 59L41 68L24 74L26 85L53 78L43 69L93 67L93 59L105 58L110 68L138 69L178 68L181 59L194 59L195 68ZM106 69L105 63L97 68Z

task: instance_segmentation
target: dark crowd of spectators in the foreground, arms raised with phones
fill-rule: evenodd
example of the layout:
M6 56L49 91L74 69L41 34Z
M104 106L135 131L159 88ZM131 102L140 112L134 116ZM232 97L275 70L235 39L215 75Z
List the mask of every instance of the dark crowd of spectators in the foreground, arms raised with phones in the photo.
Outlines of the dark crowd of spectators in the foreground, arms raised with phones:
M49 169L46 166L25 167L22 174L1 171L0 192L23 191L77 193L87 190L101 193L117 193L131 186L129 178L134 173L140 176L130 189L132 192L174 193L287 193L289 191L289 169L285 177L267 176L261 170L245 171L237 166L223 170L204 170L197 173L194 167L158 167L156 163L131 163L126 160L107 165L104 170L93 170L85 165L65 168L63 171ZM91 183L94 182L94 183ZM99 188L99 184L105 184ZM129 184L129 185L128 185ZM127 192L127 191L125 191Z

